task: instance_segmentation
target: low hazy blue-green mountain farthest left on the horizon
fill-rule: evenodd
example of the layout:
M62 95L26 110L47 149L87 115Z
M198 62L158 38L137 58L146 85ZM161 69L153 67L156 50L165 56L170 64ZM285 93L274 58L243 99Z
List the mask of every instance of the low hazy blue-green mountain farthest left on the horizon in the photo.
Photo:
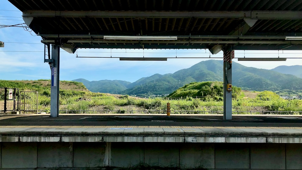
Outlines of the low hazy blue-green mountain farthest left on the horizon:
M126 90L131 82L122 80L100 80L100 81L88 81L86 79L72 80L74 82L82 82L86 88L92 92L102 92L118 94L123 90Z

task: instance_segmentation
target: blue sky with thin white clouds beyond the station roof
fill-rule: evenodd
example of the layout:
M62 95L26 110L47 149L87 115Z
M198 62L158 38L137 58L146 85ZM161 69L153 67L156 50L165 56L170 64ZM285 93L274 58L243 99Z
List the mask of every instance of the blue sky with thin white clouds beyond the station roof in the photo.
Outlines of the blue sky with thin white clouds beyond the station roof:
M22 12L7 0L1 1L0 25L24 23ZM24 25L25 26L25 25ZM44 45L41 37L23 27L0 28L0 79L37 80L50 79L50 68L43 63ZM106 58L76 58L76 56L115 56L115 57L208 57L208 50L131 50L131 49L78 49L69 54L61 49L60 80L87 79L124 80L135 82L153 74L174 73L207 59L168 59L168 61L119 61ZM222 53L210 55L222 57ZM235 57L300 57L302 51L235 51ZM237 62L237 59L233 59ZM238 62L244 66L273 69L280 65L302 65L302 59L287 59L286 62ZM221 68L222 69L222 68Z

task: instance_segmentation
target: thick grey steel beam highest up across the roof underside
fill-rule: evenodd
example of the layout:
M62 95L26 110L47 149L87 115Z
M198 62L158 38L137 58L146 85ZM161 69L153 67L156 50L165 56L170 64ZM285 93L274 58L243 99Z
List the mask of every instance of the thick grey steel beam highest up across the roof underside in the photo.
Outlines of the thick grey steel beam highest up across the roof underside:
M302 11L23 11L23 17L302 19Z

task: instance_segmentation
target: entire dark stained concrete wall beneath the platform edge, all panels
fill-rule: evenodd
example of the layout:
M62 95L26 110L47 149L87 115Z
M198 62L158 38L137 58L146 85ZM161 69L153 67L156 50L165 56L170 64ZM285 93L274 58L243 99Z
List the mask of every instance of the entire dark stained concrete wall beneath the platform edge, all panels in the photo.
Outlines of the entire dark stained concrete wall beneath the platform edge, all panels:
M302 169L296 143L2 142L1 168L129 167Z

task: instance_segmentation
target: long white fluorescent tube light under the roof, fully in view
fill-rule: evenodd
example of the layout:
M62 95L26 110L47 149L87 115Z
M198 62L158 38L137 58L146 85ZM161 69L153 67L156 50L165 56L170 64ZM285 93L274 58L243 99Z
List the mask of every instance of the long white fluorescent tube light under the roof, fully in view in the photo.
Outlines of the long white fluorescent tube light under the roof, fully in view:
M177 40L169 36L104 36L104 40Z

